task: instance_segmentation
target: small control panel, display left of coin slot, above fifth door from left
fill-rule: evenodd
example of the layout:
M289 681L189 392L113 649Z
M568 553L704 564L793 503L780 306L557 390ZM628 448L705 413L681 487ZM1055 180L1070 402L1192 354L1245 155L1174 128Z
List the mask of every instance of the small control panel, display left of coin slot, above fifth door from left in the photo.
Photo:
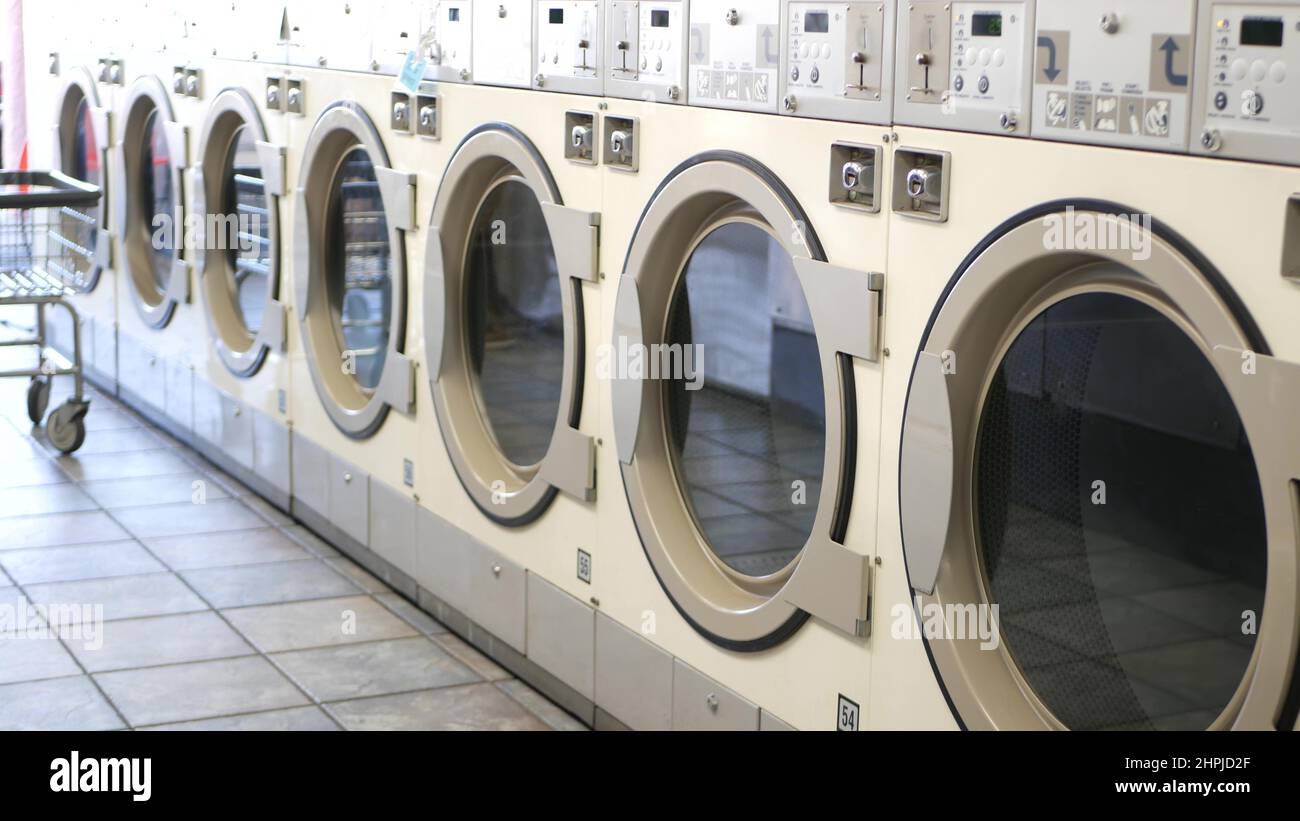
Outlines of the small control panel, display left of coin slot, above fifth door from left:
M599 0L538 0L533 14L533 86L543 91L601 94Z

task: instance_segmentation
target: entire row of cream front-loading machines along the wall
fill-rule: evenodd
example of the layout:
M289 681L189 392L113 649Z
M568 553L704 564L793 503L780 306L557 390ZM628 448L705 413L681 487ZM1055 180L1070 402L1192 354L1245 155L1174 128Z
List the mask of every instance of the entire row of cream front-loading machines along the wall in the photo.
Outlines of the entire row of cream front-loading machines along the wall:
M225 5L26 6L30 122L56 135L34 165L107 194L72 229L92 375L568 709L1295 726L1294 95L1219 123L1258 161L1210 158L1123 126L982 133L953 94L956 120L871 125L801 116L788 84L768 116L478 61L486 21L630 6L640 45L606 53L689 49L711 68L688 95L753 99L758 55L810 78L790 26L863 4L696 0L673 36L685 4L358 3L352 29ZM1290 3L1164 1L1173 31L1134 0L866 5L949 16L907 92L957 84L936 31L1019 25L1089 123L1162 94L1184 136L1197 8L1235 39L1225 78L1300 47ZM767 6L793 14L775 43L742 30ZM447 75L464 55L425 14L454 9L474 61ZM586 70L543 34L491 43Z

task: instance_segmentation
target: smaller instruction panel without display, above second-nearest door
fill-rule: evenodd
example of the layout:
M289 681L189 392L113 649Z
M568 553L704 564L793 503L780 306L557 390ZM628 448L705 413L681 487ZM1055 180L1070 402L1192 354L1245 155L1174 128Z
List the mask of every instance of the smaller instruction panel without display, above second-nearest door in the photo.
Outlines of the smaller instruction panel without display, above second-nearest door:
M780 0L693 0L686 43L692 105L777 110Z

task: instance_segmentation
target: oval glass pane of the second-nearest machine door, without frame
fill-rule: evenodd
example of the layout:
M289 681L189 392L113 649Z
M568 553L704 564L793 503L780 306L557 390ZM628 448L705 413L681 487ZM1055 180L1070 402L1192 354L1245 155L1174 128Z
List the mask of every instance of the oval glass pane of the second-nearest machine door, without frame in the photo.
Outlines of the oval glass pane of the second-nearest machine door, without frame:
M729 570L779 573L812 531L826 456L816 333L790 256L754 223L712 229L682 266L664 339L690 364L662 385L699 535Z

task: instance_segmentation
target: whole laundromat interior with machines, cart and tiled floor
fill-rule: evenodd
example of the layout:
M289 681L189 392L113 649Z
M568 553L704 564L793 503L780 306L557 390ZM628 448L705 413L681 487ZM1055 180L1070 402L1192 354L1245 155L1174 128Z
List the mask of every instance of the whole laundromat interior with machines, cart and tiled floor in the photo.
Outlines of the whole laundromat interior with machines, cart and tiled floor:
M0 729L1297 729L1300 1L0 6Z

